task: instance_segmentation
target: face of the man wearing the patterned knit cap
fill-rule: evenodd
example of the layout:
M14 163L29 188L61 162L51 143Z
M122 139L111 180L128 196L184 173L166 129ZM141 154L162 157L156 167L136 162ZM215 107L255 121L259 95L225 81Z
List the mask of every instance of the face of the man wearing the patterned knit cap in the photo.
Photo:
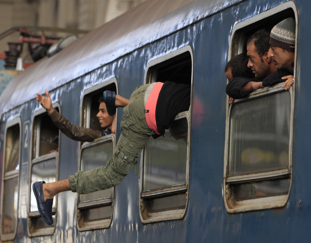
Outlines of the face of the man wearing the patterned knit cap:
M291 71L291 63L295 60L295 52L285 50L275 45L270 45L268 57L272 58L277 69L285 68Z

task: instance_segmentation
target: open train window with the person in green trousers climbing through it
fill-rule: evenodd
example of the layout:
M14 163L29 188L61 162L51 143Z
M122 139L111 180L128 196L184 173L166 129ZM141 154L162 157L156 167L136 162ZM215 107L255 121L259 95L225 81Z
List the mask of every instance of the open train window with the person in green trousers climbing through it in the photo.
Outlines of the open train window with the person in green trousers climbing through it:
M146 83L173 81L192 84L193 57L189 46L151 61ZM191 107L191 105L190 105ZM144 223L181 219L188 204L190 112L179 113L165 135L148 140L142 155L140 216Z

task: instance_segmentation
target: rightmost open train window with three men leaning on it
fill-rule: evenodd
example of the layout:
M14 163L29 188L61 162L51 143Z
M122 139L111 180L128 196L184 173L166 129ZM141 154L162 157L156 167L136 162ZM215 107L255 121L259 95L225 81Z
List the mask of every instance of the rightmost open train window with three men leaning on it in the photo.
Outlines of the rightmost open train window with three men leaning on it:
M287 2L237 24L230 41L231 57L246 51L248 37L258 29L296 16L294 4ZM285 90L281 83L253 91L230 105L223 189L227 212L286 204L292 180L293 90Z

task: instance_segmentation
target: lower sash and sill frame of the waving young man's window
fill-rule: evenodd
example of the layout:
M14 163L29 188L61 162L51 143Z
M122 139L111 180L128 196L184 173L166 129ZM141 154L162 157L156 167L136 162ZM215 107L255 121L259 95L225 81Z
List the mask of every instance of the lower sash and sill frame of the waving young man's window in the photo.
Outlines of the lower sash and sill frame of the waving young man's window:
M86 142L81 146L80 152L79 152L79 168L81 169L81 154L84 149L100 145L103 143L106 143L108 141L112 141L113 143L113 153L115 151L115 146L116 146L116 137L114 134L109 134L100 138L96 138L92 142ZM112 154L113 155L113 154ZM111 156L112 156L111 155ZM79 222L79 215L81 215L80 210L87 209L87 208L92 208L92 207L106 207L106 206L111 206L111 217L109 219L103 219L103 220L97 220L93 221L93 223L88 223L84 226L80 226ZM77 229L79 231L87 231L87 230L96 230L96 229L104 229L108 228L111 225L113 214L114 214L114 187L111 189L111 197L110 199L107 198L102 198L102 199L94 199L91 202L79 202L79 195L77 196L77 201L76 201L76 212L77 212Z

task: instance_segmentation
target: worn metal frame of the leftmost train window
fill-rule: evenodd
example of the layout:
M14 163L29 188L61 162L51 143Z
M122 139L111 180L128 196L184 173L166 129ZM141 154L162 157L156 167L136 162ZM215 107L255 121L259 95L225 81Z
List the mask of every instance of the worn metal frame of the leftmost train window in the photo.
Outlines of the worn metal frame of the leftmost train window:
M18 125L19 126L19 155L18 155L18 165L19 170L16 172L5 172L5 161L6 161L6 147L7 147L7 131L9 128ZM12 120L7 121L4 133L4 146L3 146L3 164L2 164L2 193L1 193L1 220L0 220L0 231L1 231L1 241L10 241L14 240L16 237L17 232L17 222L18 222L18 215L19 215L19 188L20 188L20 171L21 171L21 141L22 141L22 127L21 127L21 118L16 117ZM16 208L16 222L15 222L15 229L12 233L2 234L2 212L3 212L3 199L4 199L4 182L6 180L17 178L17 188L18 188L18 195L17 195L17 208Z

